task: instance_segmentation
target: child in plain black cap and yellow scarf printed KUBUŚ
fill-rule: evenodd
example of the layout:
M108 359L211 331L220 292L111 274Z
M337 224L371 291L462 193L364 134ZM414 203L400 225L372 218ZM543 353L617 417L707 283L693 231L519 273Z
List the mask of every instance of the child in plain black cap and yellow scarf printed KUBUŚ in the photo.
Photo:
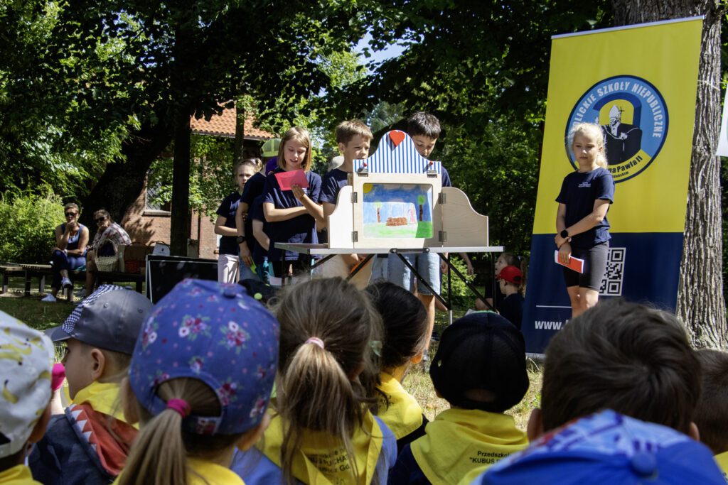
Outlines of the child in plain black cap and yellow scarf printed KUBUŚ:
M526 433L503 414L529 389L523 335L510 321L491 312L459 318L442 334L430 377L451 409L405 445L390 484L457 484L528 446Z

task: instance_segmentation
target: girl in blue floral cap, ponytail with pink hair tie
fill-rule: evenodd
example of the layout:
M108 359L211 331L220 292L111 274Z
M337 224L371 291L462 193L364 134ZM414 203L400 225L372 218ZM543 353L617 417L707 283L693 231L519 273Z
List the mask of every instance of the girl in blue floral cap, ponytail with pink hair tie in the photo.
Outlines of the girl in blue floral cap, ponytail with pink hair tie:
M269 422L275 318L237 285L185 280L138 337L122 403L141 422L119 485L243 485L229 470Z

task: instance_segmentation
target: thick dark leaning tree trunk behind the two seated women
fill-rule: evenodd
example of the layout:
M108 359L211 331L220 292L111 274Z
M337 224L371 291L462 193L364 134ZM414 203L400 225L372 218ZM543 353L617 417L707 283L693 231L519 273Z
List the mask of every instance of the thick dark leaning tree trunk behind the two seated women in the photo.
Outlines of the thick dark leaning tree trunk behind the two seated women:
M124 161L111 163L83 201L81 223L95 231L93 213L105 208L116 222L121 222L127 209L144 187L146 172L172 141L171 130L164 124L143 126L124 141Z

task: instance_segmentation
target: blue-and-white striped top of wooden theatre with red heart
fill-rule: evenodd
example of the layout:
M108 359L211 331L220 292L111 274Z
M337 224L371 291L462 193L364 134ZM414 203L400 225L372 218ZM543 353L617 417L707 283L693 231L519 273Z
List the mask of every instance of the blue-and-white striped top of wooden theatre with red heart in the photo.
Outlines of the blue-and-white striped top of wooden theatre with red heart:
M392 137L389 136L389 133L392 132L385 133L379 140L379 146L372 156L368 159L354 161L354 172L360 172L362 167L365 167L370 173L424 174L427 173L427 170L441 173L439 161L427 160L417 153L414 141L409 135L405 132L398 132L398 130L395 132L398 136L401 136L400 133L404 135L399 145L395 146Z

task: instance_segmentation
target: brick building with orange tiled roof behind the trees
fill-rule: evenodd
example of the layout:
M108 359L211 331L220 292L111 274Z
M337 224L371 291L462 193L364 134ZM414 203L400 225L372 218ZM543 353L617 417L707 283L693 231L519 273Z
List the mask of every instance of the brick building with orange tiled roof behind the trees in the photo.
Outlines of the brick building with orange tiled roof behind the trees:
M190 120L190 127L194 135L234 138L235 116L234 109L226 109L221 115L213 116L210 121L193 117ZM244 153L259 153L261 142L276 136L253 127L253 121L253 119L247 118L243 125L242 148ZM149 191L145 183L138 198L124 215L122 225L132 241L143 244L161 241L170 244L171 212L168 210L169 207L151 207L147 199L149 199ZM209 217L192 211L188 240L188 256L217 259L218 235L215 234L215 225L210 222Z

